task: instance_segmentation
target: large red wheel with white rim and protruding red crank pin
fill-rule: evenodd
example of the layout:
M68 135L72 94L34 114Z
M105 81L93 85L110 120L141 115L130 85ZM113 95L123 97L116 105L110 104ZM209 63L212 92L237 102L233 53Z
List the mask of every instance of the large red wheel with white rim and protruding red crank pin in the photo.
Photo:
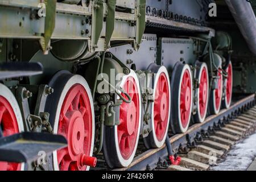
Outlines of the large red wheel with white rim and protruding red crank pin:
M59 72L49 86L55 90L46 103L53 132L68 140L68 147L53 152L53 168L85 171L95 167L93 99L87 82L82 76Z

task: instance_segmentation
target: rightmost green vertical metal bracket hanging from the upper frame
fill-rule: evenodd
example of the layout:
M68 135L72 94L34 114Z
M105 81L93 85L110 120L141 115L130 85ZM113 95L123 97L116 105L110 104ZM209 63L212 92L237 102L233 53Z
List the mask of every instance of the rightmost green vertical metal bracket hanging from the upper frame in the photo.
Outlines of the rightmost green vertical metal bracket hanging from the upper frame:
M146 27L146 0L137 0L137 35L135 49L139 48Z

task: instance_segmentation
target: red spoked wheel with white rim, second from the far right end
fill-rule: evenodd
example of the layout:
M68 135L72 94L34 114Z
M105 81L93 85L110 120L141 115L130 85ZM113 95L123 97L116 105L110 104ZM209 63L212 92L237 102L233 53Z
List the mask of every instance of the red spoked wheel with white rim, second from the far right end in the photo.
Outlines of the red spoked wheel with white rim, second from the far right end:
M218 114L221 109L222 100L222 73L221 68L218 70L217 88L210 91L209 111L210 114Z

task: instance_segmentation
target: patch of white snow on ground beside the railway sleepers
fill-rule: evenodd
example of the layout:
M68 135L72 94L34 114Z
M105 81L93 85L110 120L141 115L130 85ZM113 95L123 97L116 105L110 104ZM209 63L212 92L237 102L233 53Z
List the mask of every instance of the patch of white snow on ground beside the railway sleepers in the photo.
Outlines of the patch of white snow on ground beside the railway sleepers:
M224 162L211 168L213 171L245 171L256 156L256 133L232 147Z

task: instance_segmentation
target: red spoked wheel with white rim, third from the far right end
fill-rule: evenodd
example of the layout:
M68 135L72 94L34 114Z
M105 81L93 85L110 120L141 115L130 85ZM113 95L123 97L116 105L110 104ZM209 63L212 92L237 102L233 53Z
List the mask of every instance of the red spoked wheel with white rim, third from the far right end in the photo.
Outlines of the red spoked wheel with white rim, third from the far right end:
M207 64L199 63L200 69L196 73L196 78L199 80L199 88L196 90L197 94L197 113L195 115L195 122L203 123L207 115L208 98L209 98L209 76Z

